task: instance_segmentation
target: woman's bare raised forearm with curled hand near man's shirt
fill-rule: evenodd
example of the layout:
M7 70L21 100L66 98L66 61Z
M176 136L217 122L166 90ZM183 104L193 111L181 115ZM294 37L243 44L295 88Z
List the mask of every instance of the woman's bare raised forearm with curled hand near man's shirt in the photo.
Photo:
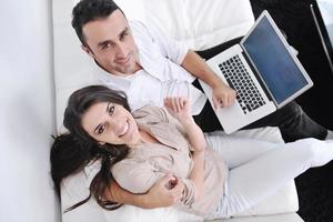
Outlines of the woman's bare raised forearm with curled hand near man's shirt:
M195 185L195 200L198 200L203 190L205 139L191 115L190 102L186 98L167 98L164 104L168 111L183 125L189 137L189 142L193 148L192 159L194 165L189 179L192 180Z

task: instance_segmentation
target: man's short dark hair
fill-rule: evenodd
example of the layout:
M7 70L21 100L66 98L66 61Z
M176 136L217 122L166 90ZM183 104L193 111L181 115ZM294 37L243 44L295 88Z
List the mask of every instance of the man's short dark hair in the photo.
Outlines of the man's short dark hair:
M81 0L72 11L72 27L81 43L87 46L82 31L84 24L109 17L115 10L122 10L112 0Z

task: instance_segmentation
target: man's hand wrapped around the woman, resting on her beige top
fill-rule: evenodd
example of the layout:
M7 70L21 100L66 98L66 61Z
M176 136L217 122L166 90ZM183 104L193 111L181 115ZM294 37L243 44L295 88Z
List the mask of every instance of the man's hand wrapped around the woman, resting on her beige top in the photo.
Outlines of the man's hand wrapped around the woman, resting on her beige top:
M171 173L158 181L144 195L145 209L165 208L179 203L184 184Z

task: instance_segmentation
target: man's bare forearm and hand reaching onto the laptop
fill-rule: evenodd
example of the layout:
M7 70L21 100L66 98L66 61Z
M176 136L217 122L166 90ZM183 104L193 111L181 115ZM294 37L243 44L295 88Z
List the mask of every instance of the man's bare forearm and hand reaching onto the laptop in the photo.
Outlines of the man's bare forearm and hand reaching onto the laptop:
M229 107L234 102L236 92L226 85L194 51L189 50L181 65L212 88L215 109Z

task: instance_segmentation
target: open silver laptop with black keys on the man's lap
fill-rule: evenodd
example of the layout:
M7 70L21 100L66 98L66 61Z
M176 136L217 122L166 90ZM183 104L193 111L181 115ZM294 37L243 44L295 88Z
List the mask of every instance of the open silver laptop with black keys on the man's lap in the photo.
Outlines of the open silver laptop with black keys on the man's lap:
M239 44L206 63L238 93L231 107L215 110L225 133L274 112L313 85L266 10ZM213 104L212 89L201 80L200 84Z

